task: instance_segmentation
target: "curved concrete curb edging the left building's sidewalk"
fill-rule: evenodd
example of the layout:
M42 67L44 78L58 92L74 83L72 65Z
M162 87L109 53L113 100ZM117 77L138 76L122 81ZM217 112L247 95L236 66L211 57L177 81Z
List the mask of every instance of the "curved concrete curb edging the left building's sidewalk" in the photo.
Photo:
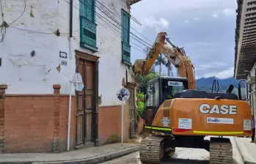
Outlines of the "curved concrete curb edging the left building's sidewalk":
M131 154L139 151L139 146L133 146L126 149L117 150L115 152L109 152L106 154L99 154L94 157L81 158L76 160L56 160L56 161L24 161L24 162L3 162L2 164L95 164L102 163L107 160L113 160L118 157ZM1 163L1 162L0 162Z

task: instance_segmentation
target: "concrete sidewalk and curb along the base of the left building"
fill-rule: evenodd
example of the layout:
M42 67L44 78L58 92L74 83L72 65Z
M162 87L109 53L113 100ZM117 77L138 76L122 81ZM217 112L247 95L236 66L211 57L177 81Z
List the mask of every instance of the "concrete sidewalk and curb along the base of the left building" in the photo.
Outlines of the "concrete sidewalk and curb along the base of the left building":
M86 149L77 149L58 154L51 153L17 153L0 154L0 163L101 163L139 150L138 143L114 143Z

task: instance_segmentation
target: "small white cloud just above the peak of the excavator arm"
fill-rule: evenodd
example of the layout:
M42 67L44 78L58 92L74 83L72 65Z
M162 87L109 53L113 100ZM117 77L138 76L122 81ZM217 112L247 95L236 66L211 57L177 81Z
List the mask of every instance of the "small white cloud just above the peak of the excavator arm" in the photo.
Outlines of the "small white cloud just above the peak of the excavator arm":
M156 31L159 31L160 29L167 29L169 26L169 21L164 19L164 18L145 18L144 21L142 22L143 25L145 26L150 26L151 28L156 28Z

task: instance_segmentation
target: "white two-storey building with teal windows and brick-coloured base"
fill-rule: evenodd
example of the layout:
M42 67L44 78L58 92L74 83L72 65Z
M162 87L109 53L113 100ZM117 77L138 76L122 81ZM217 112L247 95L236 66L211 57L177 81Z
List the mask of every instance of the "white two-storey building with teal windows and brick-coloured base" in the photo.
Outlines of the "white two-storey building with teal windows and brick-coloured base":
M65 146L61 148L57 146L58 148L55 149L52 145L56 142L58 144L63 142L66 145L69 85L76 71L82 75L84 90L79 93L76 93L73 87L71 90L71 94L76 96L72 99L71 148L91 143L97 145L98 141L100 143L106 141L109 135L114 133L120 135L120 127L117 124L120 124L121 103L117 100L116 92L122 86L127 87L131 92L131 100L126 106L129 110L125 117L128 122L125 125L125 136L126 138L134 136L135 121L130 123L130 120L134 120L135 117L134 111L131 111L135 110L136 85L132 79L131 69L129 10L131 4L136 2L132 0L1 1L3 19L0 17L2 25L0 26L2 31L0 84L8 86L5 103L20 103L21 105L14 107L15 110L26 112L38 104L45 104L43 97L56 96L53 85L59 84L61 86L59 103L51 101L51 98L47 102L58 105L59 115L54 111L52 117L48 117L46 121L56 122L58 126L62 126L63 123L63 129L58 130L58 127L54 127L55 123L51 127L54 132L53 141L45 141L51 145L51 149L43 147L36 151L29 149L29 146L21 149L6 146L4 152L13 152L12 150L15 149L18 149L18 152L52 152L56 149L59 151L66 149ZM58 87L54 86L54 88ZM28 102L26 104L30 106L25 105L25 108L20 108L23 102ZM42 109L43 105L39 107ZM7 107L4 111L7 113ZM34 112L35 109L30 111L33 114ZM29 116L34 116L33 114ZM4 116L4 126L12 126L7 122L8 115ZM12 116L20 115L13 113ZM58 121L59 119L64 121ZM29 120L19 126L35 124L32 119ZM57 141L54 139L55 132L59 137ZM15 132L7 130L4 133L4 141L8 141L7 133ZM24 134L21 132L18 135ZM38 135L34 133L32 137L37 138ZM26 138L21 140L23 141L26 141ZM32 142L40 144L36 139Z

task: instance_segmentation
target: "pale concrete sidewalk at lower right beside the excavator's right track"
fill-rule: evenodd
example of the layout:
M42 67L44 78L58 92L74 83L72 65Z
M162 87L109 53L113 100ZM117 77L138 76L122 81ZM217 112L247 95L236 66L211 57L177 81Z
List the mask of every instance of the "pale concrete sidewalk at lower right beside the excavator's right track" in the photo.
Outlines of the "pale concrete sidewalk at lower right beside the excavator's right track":
M235 142L238 145L239 152L243 157L244 163L256 164L256 144L250 143L251 138L235 137Z

